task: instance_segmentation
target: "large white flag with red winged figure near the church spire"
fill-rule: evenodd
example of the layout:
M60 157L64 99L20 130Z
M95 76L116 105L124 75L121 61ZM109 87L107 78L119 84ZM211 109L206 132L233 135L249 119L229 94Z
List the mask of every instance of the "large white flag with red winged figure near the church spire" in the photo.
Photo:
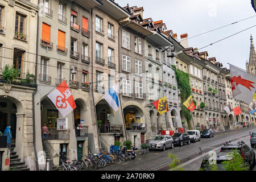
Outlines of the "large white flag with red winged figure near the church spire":
M233 97L250 104L256 91L256 77L230 64Z

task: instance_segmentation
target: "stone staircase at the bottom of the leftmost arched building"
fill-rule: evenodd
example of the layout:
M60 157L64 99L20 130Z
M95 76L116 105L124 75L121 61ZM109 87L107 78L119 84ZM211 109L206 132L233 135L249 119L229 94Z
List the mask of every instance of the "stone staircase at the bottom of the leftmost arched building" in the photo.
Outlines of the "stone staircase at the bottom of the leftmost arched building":
M25 162L21 162L19 156L14 152L15 146L11 146L11 155L10 155L10 170L13 171L30 171L30 168L25 164Z

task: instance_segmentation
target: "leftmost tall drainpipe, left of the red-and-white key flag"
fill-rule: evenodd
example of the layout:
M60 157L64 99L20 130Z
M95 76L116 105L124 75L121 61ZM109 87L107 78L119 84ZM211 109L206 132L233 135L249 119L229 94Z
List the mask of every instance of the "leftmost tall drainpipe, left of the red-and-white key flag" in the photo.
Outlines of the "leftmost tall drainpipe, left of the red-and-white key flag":
M39 2L38 2L39 6ZM36 65L35 65L35 75L38 76L38 38L39 38L39 13L38 13L38 22L37 22L37 31L36 31ZM36 79L37 81L37 79ZM33 110L33 141L34 141L34 150L35 150L35 162L36 162L36 171L39 171L39 165L38 165L38 154L36 152L36 129L35 129L35 94L38 91L38 86L36 86L35 92L32 94L32 110Z

